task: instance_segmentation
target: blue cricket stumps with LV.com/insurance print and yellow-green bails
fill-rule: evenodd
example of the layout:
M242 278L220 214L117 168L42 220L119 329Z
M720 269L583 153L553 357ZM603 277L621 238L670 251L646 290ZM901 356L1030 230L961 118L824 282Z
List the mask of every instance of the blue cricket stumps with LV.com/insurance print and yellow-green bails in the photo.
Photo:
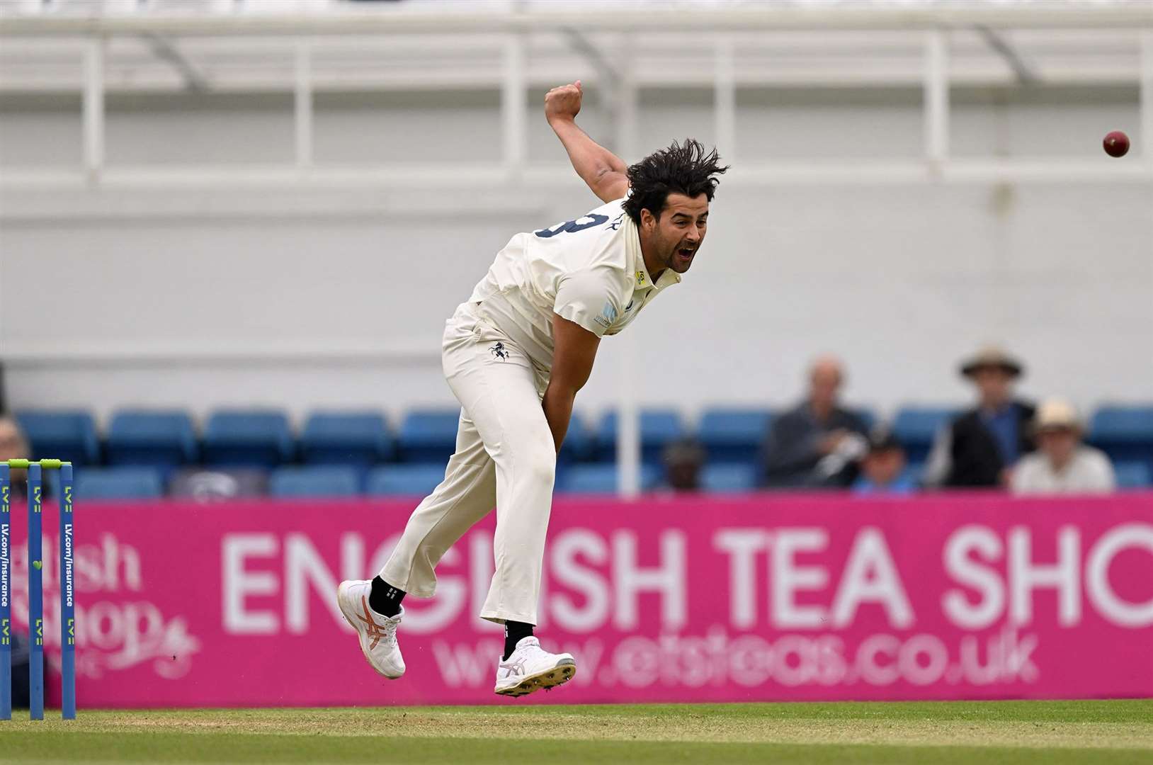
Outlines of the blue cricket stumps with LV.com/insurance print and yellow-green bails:
M73 466L60 459L0 462L0 720L12 719L12 482L28 471L29 713L44 719L43 471L60 471L60 714L76 719L76 598L73 580Z

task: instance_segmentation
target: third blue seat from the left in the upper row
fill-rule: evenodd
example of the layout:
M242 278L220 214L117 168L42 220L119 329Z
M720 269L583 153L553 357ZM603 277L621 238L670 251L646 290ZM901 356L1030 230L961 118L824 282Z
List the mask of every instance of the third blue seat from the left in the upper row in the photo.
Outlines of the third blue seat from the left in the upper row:
M204 428L204 463L231 467L276 467L293 457L292 429L284 412L220 410Z

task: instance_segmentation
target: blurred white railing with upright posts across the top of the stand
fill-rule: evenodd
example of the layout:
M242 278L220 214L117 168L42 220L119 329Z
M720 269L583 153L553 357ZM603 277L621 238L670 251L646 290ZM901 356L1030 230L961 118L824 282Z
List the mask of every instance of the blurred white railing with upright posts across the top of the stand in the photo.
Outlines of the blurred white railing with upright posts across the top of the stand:
M263 1L263 0L262 0ZM375 5L375 3L374 3ZM265 3L297 13L255 13L255 3L23 3L0 14L0 93L83 93L83 167L8 170L6 187L284 182L374 185L392 166L324 166L312 151L314 93L323 90L497 88L503 153L498 166L435 167L427 182L551 185L567 178L526 162L525 92L583 76L610 91L615 147L630 153L636 92L706 87L714 93L718 145L734 158L739 88L764 85L917 87L922 96L919 160L741 163L738 183L1046 182L1153 179L1144 162L1013 159L950 152L950 90L1025 87L1040 81L1133 87L1140 130L1153 147L1151 2L683 2L677 13L611 5L611 24L586 32L604 3L586 0L497 3ZM205 13L178 13L188 8ZM82 13L84 8L107 13ZM300 9L310 8L310 13ZM477 10L480 8L480 10ZM168 9L165 12L165 9ZM224 10L234 13L223 13ZM71 10L71 12L69 12ZM113 13L122 10L122 13ZM208 12L211 10L211 12ZM603 31L604 27L609 31ZM77 67L77 63L80 66ZM55 68L54 68L55 67ZM77 77L76 72L82 76ZM55 74L53 74L55 73ZM104 104L110 91L261 92L295 102L295 157L271 167L110 167ZM1135 152L1136 153L1136 152ZM472 180L470 180L472 178Z

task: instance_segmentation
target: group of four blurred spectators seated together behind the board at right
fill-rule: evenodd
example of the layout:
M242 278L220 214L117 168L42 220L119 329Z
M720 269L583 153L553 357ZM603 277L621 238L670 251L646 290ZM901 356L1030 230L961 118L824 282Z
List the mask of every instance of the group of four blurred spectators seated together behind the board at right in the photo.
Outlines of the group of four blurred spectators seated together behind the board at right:
M1076 410L1060 398L1039 407L1017 398L1024 365L1001 348L985 348L960 366L977 402L941 427L926 465L914 477L900 441L887 427L872 433L844 408L844 373L836 359L811 369L808 396L778 418L766 452L769 487L851 488L859 494L920 489L1004 488L1015 494L1111 492L1109 458L1084 443Z

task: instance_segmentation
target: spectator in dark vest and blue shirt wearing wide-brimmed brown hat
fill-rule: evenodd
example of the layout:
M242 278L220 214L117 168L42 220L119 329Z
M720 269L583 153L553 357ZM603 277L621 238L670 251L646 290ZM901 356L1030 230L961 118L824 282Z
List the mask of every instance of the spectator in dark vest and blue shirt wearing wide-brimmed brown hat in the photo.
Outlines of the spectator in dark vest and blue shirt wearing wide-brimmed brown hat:
M1012 397L1023 372L1020 361L998 347L987 347L962 365L960 374L977 385L977 406L941 432L925 471L927 485L1009 485L1017 459L1034 448L1028 423L1035 410Z

